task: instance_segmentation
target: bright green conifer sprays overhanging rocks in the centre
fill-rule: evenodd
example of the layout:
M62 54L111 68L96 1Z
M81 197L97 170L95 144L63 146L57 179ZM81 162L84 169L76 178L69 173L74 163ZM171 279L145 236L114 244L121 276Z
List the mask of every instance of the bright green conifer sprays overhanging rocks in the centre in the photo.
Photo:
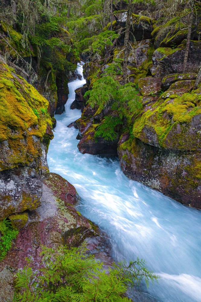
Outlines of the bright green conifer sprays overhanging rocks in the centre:
M97 106L99 111L107 106L116 113L116 116L104 117L103 122L96 128L94 137L103 137L105 140L113 141L123 125L124 118L129 118L141 108L140 97L136 85L129 82L120 85L117 77L122 76L122 59L115 59L113 63L105 68L94 84L92 90L85 93L88 103L92 108Z

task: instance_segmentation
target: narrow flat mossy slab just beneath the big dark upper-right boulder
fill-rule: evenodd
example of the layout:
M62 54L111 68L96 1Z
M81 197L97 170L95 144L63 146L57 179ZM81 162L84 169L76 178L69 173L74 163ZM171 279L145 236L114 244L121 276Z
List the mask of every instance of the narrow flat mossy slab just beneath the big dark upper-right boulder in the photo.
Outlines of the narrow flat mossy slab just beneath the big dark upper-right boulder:
M163 90L167 90L171 84L177 82L177 81L184 81L184 80L195 80L196 79L196 73L190 72L190 73L172 73L167 76L164 76L164 78L161 81L161 88Z

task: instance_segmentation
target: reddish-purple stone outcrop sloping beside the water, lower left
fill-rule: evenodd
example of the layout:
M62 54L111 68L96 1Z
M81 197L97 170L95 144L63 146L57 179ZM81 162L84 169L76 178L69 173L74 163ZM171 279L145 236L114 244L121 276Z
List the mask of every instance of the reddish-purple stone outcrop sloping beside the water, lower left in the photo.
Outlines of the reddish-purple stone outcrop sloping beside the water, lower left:
M26 225L19 231L14 246L0 264L0 300L12 301L14 273L31 257L35 270L41 265L41 245L56 248L63 243L79 246L86 238L99 235L99 230L83 217L74 205L78 201L75 188L61 176L50 173L43 181L41 206L29 212ZM100 238L100 237L98 237ZM100 241L100 239L99 239ZM89 246L93 240L89 241ZM93 244L91 250L100 244Z

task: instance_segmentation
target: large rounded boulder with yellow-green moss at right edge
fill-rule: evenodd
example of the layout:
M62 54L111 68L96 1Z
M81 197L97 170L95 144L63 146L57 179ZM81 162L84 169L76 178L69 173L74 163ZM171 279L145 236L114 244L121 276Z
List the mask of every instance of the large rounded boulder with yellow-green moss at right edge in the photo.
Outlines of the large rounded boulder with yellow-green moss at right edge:
M187 83L180 82L143 108L133 124L134 137L161 149L201 150L201 86L180 96L172 87Z

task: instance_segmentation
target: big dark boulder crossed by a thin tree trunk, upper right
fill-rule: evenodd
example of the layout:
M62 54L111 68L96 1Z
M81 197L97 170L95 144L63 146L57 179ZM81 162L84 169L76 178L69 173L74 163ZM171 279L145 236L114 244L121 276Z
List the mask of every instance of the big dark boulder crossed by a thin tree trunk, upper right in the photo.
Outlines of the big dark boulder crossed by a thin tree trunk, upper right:
M177 48L160 47L153 53L151 72L154 77L164 77L170 73L181 73L183 68L186 40ZM187 72L197 72L201 61L201 41L190 41Z

